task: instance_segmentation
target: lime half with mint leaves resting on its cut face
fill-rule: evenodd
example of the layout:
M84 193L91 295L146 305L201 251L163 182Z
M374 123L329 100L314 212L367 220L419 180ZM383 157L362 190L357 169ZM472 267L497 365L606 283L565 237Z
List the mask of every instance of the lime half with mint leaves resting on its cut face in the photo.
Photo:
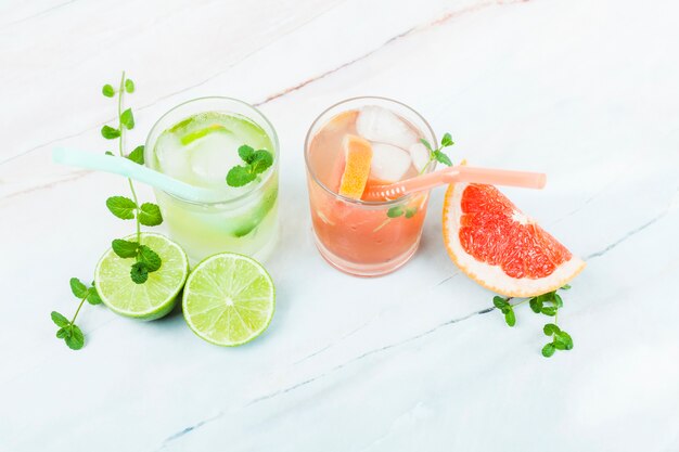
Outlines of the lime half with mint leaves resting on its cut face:
M136 241L137 234L125 237ZM141 320L155 320L167 315L177 304L177 294L187 281L189 259L175 242L165 235L142 233L142 245L161 256L157 271L149 280L136 284L130 277L133 258L123 259L108 249L94 270L94 285L104 305L113 312Z

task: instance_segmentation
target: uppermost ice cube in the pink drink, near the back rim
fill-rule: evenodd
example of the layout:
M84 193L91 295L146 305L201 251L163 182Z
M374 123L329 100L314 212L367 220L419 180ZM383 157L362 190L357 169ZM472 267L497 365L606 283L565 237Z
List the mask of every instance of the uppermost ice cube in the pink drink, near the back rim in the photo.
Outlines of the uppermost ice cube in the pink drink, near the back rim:
M403 150L418 141L415 132L401 118L376 105L360 109L356 130L369 141L393 144Z

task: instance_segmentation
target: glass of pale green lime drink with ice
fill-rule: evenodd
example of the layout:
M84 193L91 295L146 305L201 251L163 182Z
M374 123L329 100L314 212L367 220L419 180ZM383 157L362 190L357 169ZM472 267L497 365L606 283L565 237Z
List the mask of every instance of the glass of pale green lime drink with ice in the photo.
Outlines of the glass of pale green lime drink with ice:
M243 185L227 175L245 165L239 147L266 150L273 164ZM155 190L165 223L192 264L232 251L266 260L279 235L279 142L271 122L255 107L230 98L202 98L167 112L151 129L145 165L172 178L219 191L223 201L194 203Z

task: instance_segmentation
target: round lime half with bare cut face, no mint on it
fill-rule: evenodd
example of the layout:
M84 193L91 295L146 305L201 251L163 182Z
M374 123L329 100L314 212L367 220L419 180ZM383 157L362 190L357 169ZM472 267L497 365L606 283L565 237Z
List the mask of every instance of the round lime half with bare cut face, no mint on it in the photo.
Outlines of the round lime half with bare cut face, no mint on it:
M273 281L256 260L221 253L203 260L189 275L182 308L202 339L240 346L259 336L276 306Z

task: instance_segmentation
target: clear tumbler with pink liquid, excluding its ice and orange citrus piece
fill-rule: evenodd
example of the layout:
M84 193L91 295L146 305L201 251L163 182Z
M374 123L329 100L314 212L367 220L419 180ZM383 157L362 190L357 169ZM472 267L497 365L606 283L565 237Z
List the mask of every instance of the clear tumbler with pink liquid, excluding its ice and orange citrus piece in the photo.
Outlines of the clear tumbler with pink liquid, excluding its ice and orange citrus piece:
M340 143L346 133L358 134L356 118L364 107L392 112L418 139L436 143L436 138L426 120L408 105L370 96L348 99L331 106L321 113L307 133L305 160L316 245L321 256L338 270L358 276L379 276L400 268L417 251L428 192L381 202L337 193L336 175L342 171L336 163L341 162L343 152ZM394 133L398 132L395 129ZM414 175L432 171L435 165L425 162ZM334 181L334 185L329 181Z

